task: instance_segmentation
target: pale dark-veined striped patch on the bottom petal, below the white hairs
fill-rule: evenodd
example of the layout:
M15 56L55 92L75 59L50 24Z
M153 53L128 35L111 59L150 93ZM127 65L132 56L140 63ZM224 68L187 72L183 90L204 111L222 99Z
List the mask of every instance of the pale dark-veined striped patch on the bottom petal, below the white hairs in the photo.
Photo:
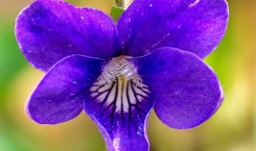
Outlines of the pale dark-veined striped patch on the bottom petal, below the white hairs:
M149 88L144 83L136 86L132 80L126 78L116 79L105 86L97 81L89 88L87 94L93 99L92 102L96 103L92 107L100 106L98 110L102 109L102 112L111 110L111 114L141 110L148 105L148 100L152 97Z

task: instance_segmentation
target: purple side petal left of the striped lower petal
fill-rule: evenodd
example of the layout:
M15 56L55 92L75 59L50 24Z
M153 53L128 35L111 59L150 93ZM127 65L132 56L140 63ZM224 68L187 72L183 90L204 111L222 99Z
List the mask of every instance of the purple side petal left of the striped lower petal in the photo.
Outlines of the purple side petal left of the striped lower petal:
M109 60L71 55L47 71L26 103L28 116L40 124L71 120L83 110L87 89Z

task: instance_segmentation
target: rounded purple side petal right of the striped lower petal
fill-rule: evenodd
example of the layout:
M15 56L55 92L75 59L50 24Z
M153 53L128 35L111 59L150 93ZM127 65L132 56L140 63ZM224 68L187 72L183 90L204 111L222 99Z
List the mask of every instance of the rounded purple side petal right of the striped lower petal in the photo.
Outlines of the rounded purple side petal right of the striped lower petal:
M156 115L169 127L198 126L222 104L216 74L193 53L163 47L128 62L154 95Z

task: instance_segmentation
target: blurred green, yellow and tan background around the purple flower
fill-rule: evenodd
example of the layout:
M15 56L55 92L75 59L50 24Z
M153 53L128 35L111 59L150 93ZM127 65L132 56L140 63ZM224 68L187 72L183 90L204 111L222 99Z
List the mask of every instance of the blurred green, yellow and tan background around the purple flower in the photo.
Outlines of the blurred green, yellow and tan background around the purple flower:
M109 13L114 0L65 0ZM175 130L151 113L151 151L256 150L256 1L227 0L228 30L205 61L215 70L225 99L217 113L190 130ZM33 68L15 40L15 18L33 0L0 0L0 151L107 151L90 118L40 125L24 111L25 101L44 75Z

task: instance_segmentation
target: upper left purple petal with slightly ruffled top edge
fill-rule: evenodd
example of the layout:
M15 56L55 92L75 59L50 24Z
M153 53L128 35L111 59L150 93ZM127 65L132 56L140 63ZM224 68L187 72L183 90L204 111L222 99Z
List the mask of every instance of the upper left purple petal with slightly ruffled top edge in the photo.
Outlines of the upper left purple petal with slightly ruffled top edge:
M15 34L28 62L46 72L72 54L108 59L121 55L114 21L95 8L37 0L16 20Z

